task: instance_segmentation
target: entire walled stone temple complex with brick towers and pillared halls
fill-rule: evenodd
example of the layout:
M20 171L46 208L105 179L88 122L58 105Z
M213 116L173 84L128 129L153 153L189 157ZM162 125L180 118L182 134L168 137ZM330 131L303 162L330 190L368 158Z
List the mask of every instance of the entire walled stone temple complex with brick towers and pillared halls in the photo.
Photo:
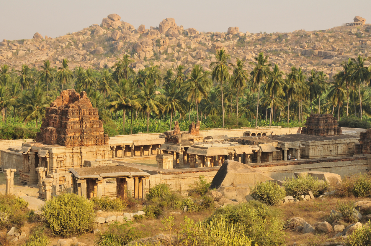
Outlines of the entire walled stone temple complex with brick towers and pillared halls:
M159 183L186 194L200 175L211 181L231 162L240 163L235 173L264 174L269 180L284 180L297 172L344 176L367 172L371 166L371 129L341 129L332 114L311 114L306 127L292 128L200 130L200 122L192 122L188 131L181 131L178 122L174 124L173 131L164 133L108 137L86 94L65 90L47 108L36 141L0 141L0 148L5 146L0 164L6 172L19 174L15 183L38 187L42 199L62 191L87 199L144 198ZM13 181L8 176L10 192ZM228 182L221 186L232 189Z

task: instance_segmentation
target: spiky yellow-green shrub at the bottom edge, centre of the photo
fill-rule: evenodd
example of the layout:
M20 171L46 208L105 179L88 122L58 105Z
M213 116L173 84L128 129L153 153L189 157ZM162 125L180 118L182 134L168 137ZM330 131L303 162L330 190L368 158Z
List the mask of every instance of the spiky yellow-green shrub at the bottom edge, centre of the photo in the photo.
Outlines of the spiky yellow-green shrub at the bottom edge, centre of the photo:
M244 235L240 223L229 222L223 217L211 219L207 223L197 224L195 224L193 220L189 220L186 216L184 216L184 219L186 225L182 225L182 230L178 233L177 238L179 245L252 245L252 240Z

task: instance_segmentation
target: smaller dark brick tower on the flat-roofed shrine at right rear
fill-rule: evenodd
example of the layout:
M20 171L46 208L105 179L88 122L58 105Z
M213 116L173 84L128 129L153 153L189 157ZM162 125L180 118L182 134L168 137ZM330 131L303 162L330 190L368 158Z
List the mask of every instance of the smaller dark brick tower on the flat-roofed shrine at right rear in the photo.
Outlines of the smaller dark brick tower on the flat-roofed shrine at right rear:
M311 114L306 118L306 127L302 128L301 134L316 136L341 135L341 127L332 114Z

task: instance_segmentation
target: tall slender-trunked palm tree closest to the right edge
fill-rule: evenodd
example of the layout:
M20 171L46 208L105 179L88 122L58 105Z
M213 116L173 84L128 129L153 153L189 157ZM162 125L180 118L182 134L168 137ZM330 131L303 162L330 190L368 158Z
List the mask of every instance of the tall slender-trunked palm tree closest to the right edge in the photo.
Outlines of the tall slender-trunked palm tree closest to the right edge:
M363 58L363 55L358 55L357 60L352 58L351 61L353 62L353 66L351 69L352 75L350 76L350 80L358 86L358 94L359 94L359 110L361 112L361 120L362 120L362 98L361 98L361 85L370 78L370 72L368 72L367 67L365 67L365 60L367 58Z

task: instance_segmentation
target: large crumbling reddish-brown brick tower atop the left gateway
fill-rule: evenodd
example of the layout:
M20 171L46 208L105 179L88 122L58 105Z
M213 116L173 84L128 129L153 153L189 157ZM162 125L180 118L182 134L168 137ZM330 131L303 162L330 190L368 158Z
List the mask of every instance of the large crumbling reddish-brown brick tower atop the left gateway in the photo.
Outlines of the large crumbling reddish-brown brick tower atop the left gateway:
M66 147L108 144L98 109L86 97L86 92L64 90L50 107L37 134L36 141Z

